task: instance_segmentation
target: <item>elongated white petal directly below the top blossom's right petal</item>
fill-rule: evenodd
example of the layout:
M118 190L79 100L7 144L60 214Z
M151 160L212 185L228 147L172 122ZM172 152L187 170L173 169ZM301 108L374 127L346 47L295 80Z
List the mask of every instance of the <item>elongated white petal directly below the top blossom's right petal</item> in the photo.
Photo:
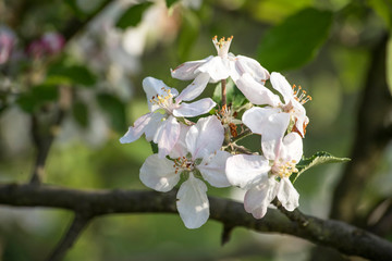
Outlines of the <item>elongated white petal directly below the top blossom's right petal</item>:
M279 96L274 95L262 84L257 83L248 73L243 74L235 84L244 96L254 104L278 107L280 103Z

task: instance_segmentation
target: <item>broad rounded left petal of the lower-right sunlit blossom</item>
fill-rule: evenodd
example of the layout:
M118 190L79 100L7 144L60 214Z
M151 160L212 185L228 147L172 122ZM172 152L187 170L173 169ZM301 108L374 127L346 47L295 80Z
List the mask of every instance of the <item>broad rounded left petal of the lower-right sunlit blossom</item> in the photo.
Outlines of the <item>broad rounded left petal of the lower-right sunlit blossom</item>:
M262 156L236 154L226 161L225 173L233 186L250 188L268 178L271 170L269 161Z

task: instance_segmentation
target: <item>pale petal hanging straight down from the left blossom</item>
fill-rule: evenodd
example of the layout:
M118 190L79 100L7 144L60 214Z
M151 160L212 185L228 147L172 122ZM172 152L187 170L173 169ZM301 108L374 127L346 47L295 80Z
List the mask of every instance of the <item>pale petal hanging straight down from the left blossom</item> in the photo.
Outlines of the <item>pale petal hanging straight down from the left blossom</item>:
M173 149L180 136L180 123L173 116L169 116L162 122L155 136L154 142L158 144L158 156L164 158Z

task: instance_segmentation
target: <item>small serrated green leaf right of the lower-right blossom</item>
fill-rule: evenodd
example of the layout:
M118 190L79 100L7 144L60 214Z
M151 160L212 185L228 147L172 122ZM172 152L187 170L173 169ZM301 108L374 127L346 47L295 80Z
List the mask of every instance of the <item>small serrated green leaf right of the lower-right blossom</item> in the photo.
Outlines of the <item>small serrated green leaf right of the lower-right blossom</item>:
M305 171L309 170L310 167L314 167L316 165L320 164L327 164L327 163L342 163L351 161L348 158L338 158L334 157L328 152L319 151L311 156L310 158L303 158L298 164L296 165L296 169L298 170L297 173L293 173L290 177L290 179L295 183L295 181L299 177L301 174L303 174Z

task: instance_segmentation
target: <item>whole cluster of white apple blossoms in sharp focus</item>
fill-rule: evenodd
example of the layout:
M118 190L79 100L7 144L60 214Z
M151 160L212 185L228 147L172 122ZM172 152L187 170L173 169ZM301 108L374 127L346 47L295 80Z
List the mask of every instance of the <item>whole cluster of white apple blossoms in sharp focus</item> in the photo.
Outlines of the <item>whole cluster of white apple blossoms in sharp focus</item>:
M303 104L311 98L301 87L292 87L280 73L270 74L256 60L230 53L232 38L215 37L218 55L171 70L172 77L192 80L181 92L160 79L145 78L143 88L150 112L120 139L128 144L145 134L148 141L157 144L158 153L144 162L140 181L163 192L181 184L176 207L188 228L201 226L209 217L206 183L245 189L245 210L256 219L267 213L275 197L289 211L298 207L299 195L290 176L298 171L296 164L303 156L309 123ZM247 105L231 105L230 97L225 97L229 78L247 99ZM273 91L265 86L267 80ZM218 82L221 104L211 98L193 101L209 83ZM260 151L236 145L252 133L261 135Z

